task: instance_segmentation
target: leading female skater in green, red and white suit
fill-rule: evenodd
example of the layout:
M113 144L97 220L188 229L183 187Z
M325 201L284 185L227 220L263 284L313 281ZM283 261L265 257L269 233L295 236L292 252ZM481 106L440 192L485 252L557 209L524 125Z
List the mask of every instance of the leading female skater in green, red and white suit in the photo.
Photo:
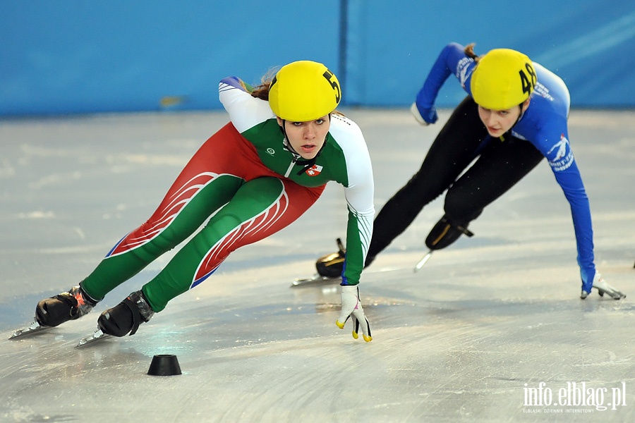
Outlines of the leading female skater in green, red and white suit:
M232 251L298 219L334 180L344 185L349 209L336 323L344 329L352 316L353 337L361 326L371 341L357 285L373 231L373 171L361 130L335 111L337 78L322 63L297 61L258 87L225 78L219 97L230 122L195 153L147 222L116 243L79 286L38 303L41 326L90 312L212 216L155 278L99 316L103 333L132 335L169 300L209 278Z

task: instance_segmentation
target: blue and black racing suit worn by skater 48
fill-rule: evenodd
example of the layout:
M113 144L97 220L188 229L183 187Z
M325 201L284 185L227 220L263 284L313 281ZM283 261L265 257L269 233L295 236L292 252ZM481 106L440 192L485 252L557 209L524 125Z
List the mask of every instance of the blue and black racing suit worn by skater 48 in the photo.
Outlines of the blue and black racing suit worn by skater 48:
M435 99L449 75L456 76L468 97L454 109L437 135L421 169L377 214L367 265L410 225L425 204L445 190L448 221L466 228L485 206L546 157L571 204L582 288L591 292L595 276L593 228L588 197L569 144L569 90L557 75L538 63L533 66L538 84L528 109L509 133L494 139L480 121L478 106L471 98L476 61L460 44L448 44L442 50L416 97L419 114L427 123L437 121Z

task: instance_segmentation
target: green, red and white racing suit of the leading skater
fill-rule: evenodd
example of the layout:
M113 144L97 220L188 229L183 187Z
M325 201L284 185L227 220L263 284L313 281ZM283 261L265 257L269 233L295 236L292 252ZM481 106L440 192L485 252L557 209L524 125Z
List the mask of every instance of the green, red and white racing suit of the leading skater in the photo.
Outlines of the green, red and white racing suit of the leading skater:
M238 78L219 83L230 122L212 135L176 178L154 214L108 252L82 281L101 300L164 252L196 233L142 290L155 312L211 276L238 247L295 221L331 180L348 207L342 285L359 283L373 233L373 171L356 123L337 113L320 154L306 161L286 147L268 102ZM211 216L211 217L210 217Z

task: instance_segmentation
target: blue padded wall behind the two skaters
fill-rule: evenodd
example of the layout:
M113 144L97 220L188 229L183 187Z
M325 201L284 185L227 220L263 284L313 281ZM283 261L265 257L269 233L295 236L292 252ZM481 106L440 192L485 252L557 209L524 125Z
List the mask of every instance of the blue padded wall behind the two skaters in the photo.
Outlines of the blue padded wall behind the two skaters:
M220 78L299 59L337 73L345 104L406 106L450 41L523 51L572 106L635 106L633 1L393 3L348 0L341 34L339 0L0 0L0 115L217 109ZM463 94L451 80L437 105Z

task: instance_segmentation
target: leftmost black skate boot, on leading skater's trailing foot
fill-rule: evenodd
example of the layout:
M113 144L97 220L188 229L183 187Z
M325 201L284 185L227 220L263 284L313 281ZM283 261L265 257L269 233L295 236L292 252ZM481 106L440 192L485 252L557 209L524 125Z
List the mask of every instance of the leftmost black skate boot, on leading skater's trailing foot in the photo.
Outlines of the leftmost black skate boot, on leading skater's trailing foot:
M66 293L38 302L35 320L42 326L58 326L65 321L79 319L95 305L97 301L90 298L81 286L73 286Z

